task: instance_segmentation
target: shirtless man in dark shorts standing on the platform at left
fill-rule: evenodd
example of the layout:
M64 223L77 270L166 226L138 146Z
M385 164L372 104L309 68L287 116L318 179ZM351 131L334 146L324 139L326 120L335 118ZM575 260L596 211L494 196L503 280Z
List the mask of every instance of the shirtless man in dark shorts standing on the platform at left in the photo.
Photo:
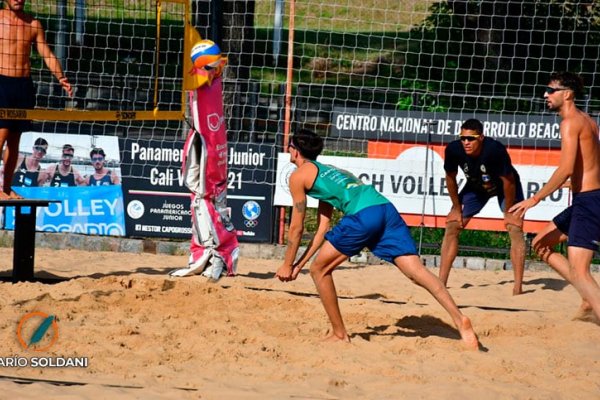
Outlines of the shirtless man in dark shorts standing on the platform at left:
M25 0L4 0L0 10L0 108L33 108L35 89L31 80L31 47L35 45L46 66L69 96L71 84L46 42L42 24L26 14ZM0 120L0 150L4 149L4 184L0 199L19 198L11 189L19 156L21 133L31 130L27 120Z

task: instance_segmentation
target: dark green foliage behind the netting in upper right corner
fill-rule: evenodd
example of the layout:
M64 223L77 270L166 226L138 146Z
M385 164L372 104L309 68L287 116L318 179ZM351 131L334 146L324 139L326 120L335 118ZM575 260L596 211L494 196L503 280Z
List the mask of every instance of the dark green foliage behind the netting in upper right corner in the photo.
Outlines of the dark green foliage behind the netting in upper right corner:
M551 72L579 72L591 83L599 45L600 2L440 2L411 30L404 78L439 83L445 109L535 112L539 103L522 99L539 98Z

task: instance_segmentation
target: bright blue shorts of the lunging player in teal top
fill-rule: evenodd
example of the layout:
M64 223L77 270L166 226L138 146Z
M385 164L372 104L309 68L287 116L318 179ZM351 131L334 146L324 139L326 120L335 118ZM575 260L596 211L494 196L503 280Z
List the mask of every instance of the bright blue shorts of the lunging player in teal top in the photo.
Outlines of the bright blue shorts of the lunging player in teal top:
M344 215L327 232L325 239L348 257L360 253L365 247L377 257L391 263L398 256L417 254L408 226L392 203Z

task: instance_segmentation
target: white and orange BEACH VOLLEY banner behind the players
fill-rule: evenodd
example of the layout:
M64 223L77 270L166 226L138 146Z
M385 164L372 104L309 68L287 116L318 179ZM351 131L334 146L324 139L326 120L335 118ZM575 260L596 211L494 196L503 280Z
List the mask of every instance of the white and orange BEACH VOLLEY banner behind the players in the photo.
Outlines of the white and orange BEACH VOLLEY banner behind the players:
M409 225L419 226L423 223L429 227L444 227L445 217L450 211L451 200L446 188L444 172L444 146L409 145L397 143L381 143L381 151L386 149L387 155L394 153L394 159L357 158L320 156L319 161L350 171L364 183L373 185L385 195L402 214ZM371 149L370 149L371 152ZM532 151L533 152L533 151ZM532 154L523 150L511 151L515 168L521 176L525 197L537 192L548 181L555 167L544 165L518 164L523 159L531 160ZM520 156L517 156L520 154ZM554 153L545 155L539 160L552 160ZM515 162L517 161L517 162ZM291 206L289 193L289 175L295 166L289 162L288 153L280 153L277 165L277 181L275 189L275 205ZM464 174L459 171L459 188L465 184ZM546 198L537 207L528 211L525 224L526 231L539 229L539 222L549 221L566 208L570 203L570 191L562 188ZM308 205L316 207L317 201L309 198ZM504 230L503 214L496 198L490 199L483 210L473 218L468 228L485 230ZM536 223L538 222L538 223Z

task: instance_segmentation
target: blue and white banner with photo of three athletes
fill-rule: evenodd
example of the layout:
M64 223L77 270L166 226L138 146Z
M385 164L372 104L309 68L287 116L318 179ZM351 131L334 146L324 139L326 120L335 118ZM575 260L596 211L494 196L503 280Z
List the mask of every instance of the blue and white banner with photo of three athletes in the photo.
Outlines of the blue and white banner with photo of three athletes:
M116 137L24 132L11 182L22 197L58 201L38 208L38 231L125 235ZM14 208L4 214L13 229Z

